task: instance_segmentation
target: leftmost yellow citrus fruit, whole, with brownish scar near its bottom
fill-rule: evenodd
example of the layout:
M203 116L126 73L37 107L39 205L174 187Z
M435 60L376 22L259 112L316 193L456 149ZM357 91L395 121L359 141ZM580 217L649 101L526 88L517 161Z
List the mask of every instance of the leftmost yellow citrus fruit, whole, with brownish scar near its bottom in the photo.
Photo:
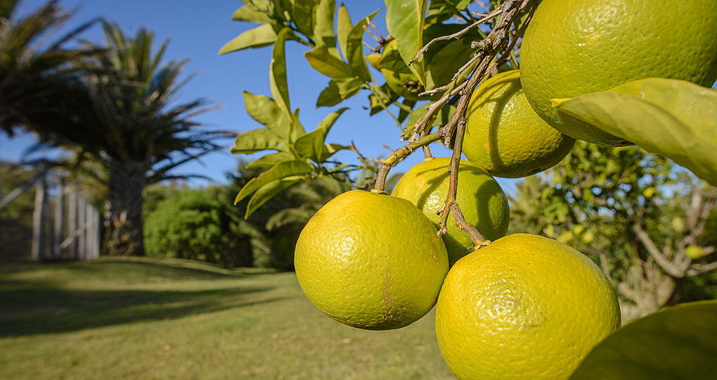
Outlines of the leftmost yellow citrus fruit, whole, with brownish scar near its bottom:
M296 244L296 277L329 317L402 328L435 305L448 271L436 228L407 200L351 190L323 206Z

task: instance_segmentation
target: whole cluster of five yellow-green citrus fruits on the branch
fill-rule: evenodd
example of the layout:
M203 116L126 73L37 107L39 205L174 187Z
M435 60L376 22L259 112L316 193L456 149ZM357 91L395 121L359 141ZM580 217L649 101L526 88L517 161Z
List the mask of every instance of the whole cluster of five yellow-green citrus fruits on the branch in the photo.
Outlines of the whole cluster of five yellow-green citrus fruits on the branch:
M521 71L480 85L467 112L457 203L493 242L473 250L452 219L437 235L449 159L429 159L392 195L351 190L315 214L295 251L305 295L331 318L369 330L402 328L436 305L437 340L460 379L567 378L619 327L617 297L571 247L504 236L508 202L492 175L546 170L574 139L629 144L557 113L551 99L649 77L711 85L716 26L715 0L543 0Z

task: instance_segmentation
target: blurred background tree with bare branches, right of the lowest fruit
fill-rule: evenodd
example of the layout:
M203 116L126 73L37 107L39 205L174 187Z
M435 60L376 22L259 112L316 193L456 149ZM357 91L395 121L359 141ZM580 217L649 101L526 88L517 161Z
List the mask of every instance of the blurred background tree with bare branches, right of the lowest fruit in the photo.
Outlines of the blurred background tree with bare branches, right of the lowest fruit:
M714 187L669 159L579 143L568 159L518 185L511 229L592 256L617 285L630 320L701 297L690 288L709 282L706 272L717 267L709 262L714 231L706 229L716 201ZM697 276L703 279L688 279Z

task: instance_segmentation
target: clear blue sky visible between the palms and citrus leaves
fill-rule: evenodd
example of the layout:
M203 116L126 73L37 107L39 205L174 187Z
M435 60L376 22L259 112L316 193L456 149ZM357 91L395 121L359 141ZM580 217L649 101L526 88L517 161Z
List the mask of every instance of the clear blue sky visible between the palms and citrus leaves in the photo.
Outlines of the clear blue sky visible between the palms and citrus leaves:
M376 9L383 9L381 0L345 1L353 22ZM44 0L25 0L22 11L35 9ZM77 9L77 14L69 28L86 22L93 17L104 17L117 22L125 33L134 34L140 27L151 29L156 34L156 42L170 39L165 57L179 60L191 58L186 73L197 73L179 94L178 101L194 98L206 98L222 106L197 116L196 120L214 129L248 131L260 127L244 111L242 91L270 96L269 62L270 47L256 50L242 50L228 55L218 55L219 47L236 37L244 30L256 24L232 21L232 13L242 3L237 0L63 0L66 8ZM341 1L337 1L341 4ZM382 27L384 11L374 19ZM384 30L385 32L385 30ZM83 37L100 42L100 27L94 27ZM366 40L369 42L369 40ZM328 83L328 78L310 68L303 52L305 46L297 42L287 43L287 67L290 100L293 108L301 108L300 119L307 130L315 128L328 113L341 106L351 107L343 113L328 135L327 142L348 144L353 140L367 157L386 156L391 149L402 146L399 142L399 129L385 113L369 116L363 107L368 105L368 93L359 93L349 101L334 107L315 108L318 94ZM17 160L22 152L34 142L32 136L23 135L9 139L0 134L0 159ZM227 142L227 144L230 144ZM448 156L447 149L432 145L436 156ZM244 156L246 157L246 156ZM356 162L351 152L337 154L338 159ZM177 172L201 173L216 182L224 181L224 172L234 170L237 156L227 149L209 154L201 162L191 162L179 167ZM412 164L420 162L421 152L416 152L394 170L406 171ZM515 180L498 179L503 188L513 193ZM194 181L201 185L203 181Z

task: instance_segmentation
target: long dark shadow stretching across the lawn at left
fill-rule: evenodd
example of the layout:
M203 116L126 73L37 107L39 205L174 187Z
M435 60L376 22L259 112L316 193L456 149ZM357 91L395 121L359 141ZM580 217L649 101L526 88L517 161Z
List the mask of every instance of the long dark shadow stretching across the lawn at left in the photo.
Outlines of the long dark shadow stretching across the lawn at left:
M236 286L201 290L163 289L62 289L68 276L92 278L116 287L133 282L151 284L185 280L240 279L243 274L222 274L201 269L165 267L161 263L137 261L96 261L89 263L27 265L9 272L57 269L57 277L19 279L0 277L0 337L62 333L107 325L165 320L216 312L237 307L275 302L289 297L262 294L273 286ZM60 270L64 271L60 273ZM8 273L8 272L6 272ZM52 272L54 274L54 272ZM207 283L209 285L207 285ZM240 285L240 284L239 284ZM225 285L224 285L225 286Z

